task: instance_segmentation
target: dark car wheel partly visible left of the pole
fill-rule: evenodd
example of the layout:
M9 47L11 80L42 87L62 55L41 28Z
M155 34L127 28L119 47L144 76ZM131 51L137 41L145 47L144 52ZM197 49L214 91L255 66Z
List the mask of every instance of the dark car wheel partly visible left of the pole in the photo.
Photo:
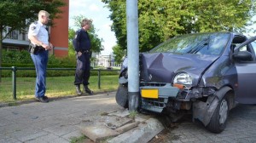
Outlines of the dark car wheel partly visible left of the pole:
M119 84L119 89L115 94L115 100L119 106L128 108L128 88L125 85Z

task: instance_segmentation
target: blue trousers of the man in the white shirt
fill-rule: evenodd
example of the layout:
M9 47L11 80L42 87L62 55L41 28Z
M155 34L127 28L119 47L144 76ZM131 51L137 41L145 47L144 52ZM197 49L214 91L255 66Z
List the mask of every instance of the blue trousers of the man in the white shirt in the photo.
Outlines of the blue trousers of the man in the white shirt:
M37 72L35 96L43 97L46 91L46 67L48 62L48 50L31 54Z

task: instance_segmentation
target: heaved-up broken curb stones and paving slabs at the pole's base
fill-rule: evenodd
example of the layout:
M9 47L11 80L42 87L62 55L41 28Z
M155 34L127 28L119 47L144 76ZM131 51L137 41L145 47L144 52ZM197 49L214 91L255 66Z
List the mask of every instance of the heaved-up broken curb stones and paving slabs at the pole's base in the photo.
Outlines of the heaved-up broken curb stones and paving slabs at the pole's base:
M80 130L82 134L95 142L146 143L164 129L162 123L154 117L137 114L131 123L125 122L129 121L128 116L128 111L113 112L108 114L102 123L96 121L90 127L81 127Z

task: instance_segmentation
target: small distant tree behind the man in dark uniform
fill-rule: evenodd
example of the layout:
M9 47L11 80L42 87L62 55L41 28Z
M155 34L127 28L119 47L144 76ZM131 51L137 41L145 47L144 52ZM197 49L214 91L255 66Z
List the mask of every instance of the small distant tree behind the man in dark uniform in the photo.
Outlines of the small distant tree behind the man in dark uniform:
M73 20L74 20L74 27L73 28L69 28L68 29L68 54L74 54L74 48L73 48L73 43L72 40L75 36L75 31L77 31L78 29L81 28L81 21L84 20L85 17L83 15L79 15L79 16L74 16ZM90 35L90 44L91 44L91 50L94 53L100 53L103 50L103 46L102 46L102 38L100 38L97 34L96 34L96 28L93 25L93 22L90 26L90 30L89 30L89 35Z

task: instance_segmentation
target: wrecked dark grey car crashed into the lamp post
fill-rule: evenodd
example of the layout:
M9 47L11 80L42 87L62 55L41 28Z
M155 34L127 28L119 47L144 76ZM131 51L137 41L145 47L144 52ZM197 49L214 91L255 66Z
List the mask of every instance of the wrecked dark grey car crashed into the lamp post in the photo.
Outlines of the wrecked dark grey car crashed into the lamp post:
M140 54L140 110L173 121L192 113L193 121L220 133L237 103L256 104L255 39L235 32L195 33ZM116 94L123 107L128 107L127 65L125 59Z

